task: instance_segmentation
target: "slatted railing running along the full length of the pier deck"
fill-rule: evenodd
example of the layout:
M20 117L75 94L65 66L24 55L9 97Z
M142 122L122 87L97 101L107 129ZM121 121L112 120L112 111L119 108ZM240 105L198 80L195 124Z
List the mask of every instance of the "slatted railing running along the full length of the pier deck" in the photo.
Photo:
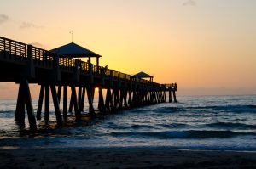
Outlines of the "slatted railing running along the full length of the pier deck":
M31 51L29 51L31 48ZM30 54L31 53L31 54ZM80 59L73 59L68 56L51 53L42 48L36 48L32 45L27 45L22 42L17 42L5 37L0 37L0 54L3 55L4 59L9 59L10 61L20 62L21 60L26 60L28 57L32 57L33 64L36 67L43 69L55 69L55 59L56 64L60 70L67 72L74 72L79 70L80 74L89 75L102 75L119 80L139 82L142 84L152 84L158 87L174 88L177 87L176 84L165 84L160 85L155 82L150 82L145 79L137 78L116 70L110 70L102 66L97 66L84 62ZM31 55L31 56L30 56Z

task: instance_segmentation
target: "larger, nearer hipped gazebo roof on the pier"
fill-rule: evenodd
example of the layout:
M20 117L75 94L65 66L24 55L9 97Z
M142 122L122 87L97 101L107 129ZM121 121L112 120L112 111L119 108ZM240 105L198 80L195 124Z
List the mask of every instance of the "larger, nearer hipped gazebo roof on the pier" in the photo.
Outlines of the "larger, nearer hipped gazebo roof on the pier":
M101 55L96 54L96 53L88 50L87 48L83 48L74 42L68 43L59 48L54 48L54 49L50 50L50 52L67 55L67 56L70 56L73 58L85 58L85 57L100 58L100 57L102 57Z

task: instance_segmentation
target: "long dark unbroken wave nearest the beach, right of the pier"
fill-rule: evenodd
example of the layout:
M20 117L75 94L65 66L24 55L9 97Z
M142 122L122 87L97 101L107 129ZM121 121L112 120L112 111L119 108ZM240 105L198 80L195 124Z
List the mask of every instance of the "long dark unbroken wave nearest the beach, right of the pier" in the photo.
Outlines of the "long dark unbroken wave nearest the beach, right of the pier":
M113 137L136 137L136 138L233 138L237 136L253 135L254 132L233 132L233 131L166 131L166 132L112 132Z

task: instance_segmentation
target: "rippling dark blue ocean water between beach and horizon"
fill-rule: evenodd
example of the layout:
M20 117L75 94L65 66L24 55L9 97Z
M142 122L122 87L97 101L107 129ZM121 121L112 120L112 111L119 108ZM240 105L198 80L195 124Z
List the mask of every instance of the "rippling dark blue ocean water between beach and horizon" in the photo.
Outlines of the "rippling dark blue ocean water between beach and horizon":
M168 99L167 99L168 100ZM256 95L177 96L163 103L74 121L57 127L37 121L38 132L15 124L15 100L0 100L0 149L201 149L256 151ZM33 100L34 110L38 100ZM86 105L86 104L85 104ZM96 102L95 102L96 105ZM88 110L88 107L85 111Z

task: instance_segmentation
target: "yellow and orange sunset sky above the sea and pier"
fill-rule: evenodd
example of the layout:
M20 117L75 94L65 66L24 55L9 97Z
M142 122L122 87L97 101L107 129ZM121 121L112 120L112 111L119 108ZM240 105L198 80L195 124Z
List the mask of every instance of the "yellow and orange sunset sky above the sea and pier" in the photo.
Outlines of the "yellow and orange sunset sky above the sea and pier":
M73 31L100 65L177 82L177 94L256 94L255 8L254 0L0 0L0 36L52 49ZM1 83L0 99L15 86Z

